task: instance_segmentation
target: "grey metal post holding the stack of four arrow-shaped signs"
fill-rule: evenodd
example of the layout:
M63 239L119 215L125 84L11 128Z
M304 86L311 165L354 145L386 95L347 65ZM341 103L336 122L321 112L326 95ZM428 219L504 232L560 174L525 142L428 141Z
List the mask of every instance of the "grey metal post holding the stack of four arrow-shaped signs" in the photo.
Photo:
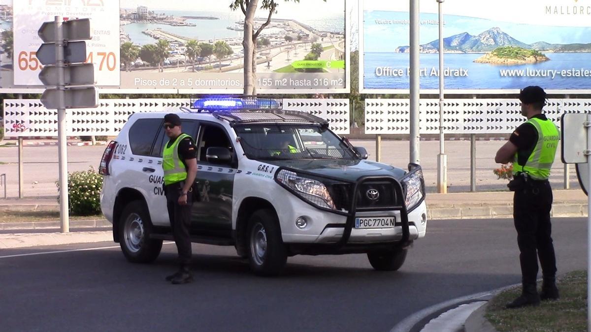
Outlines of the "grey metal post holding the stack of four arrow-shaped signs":
M68 213L68 157L66 144L66 102L64 94L66 91L64 77L64 38L61 16L56 16L56 67L57 67L57 90L59 92L59 102L57 109L57 132L60 158L60 220L61 232L70 232L70 220Z

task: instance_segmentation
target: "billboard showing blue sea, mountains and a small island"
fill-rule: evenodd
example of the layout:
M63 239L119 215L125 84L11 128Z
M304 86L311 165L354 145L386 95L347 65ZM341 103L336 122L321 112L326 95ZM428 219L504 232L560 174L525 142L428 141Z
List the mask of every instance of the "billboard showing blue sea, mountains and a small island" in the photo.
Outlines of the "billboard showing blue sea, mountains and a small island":
M443 14L447 93L591 92L591 0L454 0ZM359 19L359 89L408 93L408 1L362 0ZM421 92L437 93L436 1L421 1L419 23Z

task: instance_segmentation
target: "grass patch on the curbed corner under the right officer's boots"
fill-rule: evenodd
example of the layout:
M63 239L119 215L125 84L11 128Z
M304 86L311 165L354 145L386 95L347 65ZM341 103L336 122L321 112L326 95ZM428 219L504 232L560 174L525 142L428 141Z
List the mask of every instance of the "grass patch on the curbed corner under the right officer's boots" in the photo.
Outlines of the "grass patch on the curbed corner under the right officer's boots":
M560 300L542 301L538 307L505 309L507 302L521 294L521 288L501 292L489 302L485 318L499 332L586 331L587 272L574 271L561 276L557 285Z

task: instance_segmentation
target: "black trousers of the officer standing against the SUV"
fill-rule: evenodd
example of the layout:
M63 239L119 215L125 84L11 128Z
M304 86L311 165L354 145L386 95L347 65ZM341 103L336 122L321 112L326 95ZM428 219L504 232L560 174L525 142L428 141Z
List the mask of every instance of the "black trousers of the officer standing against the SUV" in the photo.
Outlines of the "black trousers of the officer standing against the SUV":
M178 262L181 265L188 265L191 261L191 236L189 229L191 227L191 206L193 205L192 195L187 195L187 205L179 205L183 181L164 186L166 195L166 207L168 209L168 218L170 227L173 229L174 243L177 245Z

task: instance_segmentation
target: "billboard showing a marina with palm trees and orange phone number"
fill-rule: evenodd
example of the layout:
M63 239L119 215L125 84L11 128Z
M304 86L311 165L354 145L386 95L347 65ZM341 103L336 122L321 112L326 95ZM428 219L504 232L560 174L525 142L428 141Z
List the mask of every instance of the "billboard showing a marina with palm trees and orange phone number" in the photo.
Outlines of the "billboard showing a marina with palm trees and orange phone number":
M43 15L68 17L84 11L91 24L100 24L100 35L95 33L100 41L92 41L100 45L88 61L107 71L98 82L101 93L242 93L244 14L240 8L232 11L232 2L0 0L0 92L31 92L26 88L37 87L23 84L36 80L25 62L33 67L37 63L31 52L41 44L36 25L47 20ZM105 11L89 9L97 4ZM257 91L349 92L346 9L342 0L280 2L258 37ZM268 11L258 9L255 29L267 17ZM11 38L12 51L7 45ZM19 63L21 52L26 54Z

